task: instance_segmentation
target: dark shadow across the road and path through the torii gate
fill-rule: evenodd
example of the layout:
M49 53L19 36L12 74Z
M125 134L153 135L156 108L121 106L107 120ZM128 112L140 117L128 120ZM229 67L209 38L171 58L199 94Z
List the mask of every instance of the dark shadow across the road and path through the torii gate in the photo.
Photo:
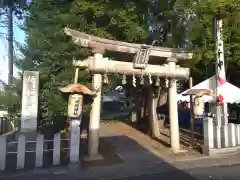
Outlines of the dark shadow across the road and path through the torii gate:
M85 140L86 143L86 140ZM86 148L87 144L83 144ZM84 162L82 166L71 169L69 166L49 167L39 170L21 170L0 173L0 179L6 180L145 180L146 178L169 180L207 180L212 169L191 169L189 172L179 170L163 158L154 155L133 139L109 130L100 139L100 161ZM81 155L81 159L83 154ZM59 169L60 168L60 169ZM235 169L236 170L236 169ZM217 174L217 169L215 169ZM222 178L225 180L225 178ZM226 178L228 179L228 178ZM230 179L229 179L230 180Z

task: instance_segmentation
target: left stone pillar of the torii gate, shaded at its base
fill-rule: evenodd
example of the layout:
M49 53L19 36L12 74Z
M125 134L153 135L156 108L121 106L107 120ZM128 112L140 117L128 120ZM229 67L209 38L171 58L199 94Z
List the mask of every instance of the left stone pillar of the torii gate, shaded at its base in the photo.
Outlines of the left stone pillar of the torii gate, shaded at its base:
M101 63L104 51L94 49L94 63ZM96 96L93 99L90 123L88 133L88 157L86 160L102 159L99 154L99 128L100 128L100 111L101 111L101 88L102 88L102 75L94 74L92 77L92 90L97 91Z

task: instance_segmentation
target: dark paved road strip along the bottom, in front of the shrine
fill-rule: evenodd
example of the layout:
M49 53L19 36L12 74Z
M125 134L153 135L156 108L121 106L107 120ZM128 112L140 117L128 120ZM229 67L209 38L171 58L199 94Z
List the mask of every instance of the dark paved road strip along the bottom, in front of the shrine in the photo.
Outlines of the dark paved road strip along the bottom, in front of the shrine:
M118 172L119 173L119 172ZM141 172L139 172L141 174ZM114 175L113 175L114 176ZM240 164L225 165L208 168L193 168L188 170L178 170L176 168L164 170L162 172L145 173L135 176L121 175L121 178L81 178L80 172L76 173L55 173L55 174L26 174L22 176L12 176L11 178L0 178L1 180L239 180L240 179Z

